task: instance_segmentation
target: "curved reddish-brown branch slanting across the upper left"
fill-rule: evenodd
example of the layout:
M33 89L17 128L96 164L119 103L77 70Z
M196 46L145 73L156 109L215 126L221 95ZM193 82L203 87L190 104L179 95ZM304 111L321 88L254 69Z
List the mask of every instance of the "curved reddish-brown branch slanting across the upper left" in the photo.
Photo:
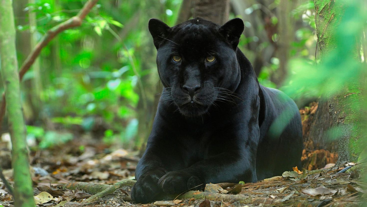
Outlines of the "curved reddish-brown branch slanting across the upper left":
M54 37L56 35L58 35L58 33L66 30L66 29L70 29L73 27L77 27L81 25L81 22L83 21L83 19L86 17L86 15L90 12L90 10L94 7L94 5L97 3L98 0L89 0L84 7L79 11L79 13L66 20L65 22L62 22L61 24L58 24L56 26L54 26L53 28L51 28L49 31L47 31L46 35L43 36L43 38L41 39L41 41L36 45L36 47L34 47L34 49L32 50L32 52L29 54L29 56L27 57L27 59L24 61L22 67L20 68L19 71L19 79L20 81L22 80L24 74L29 70L29 68L32 66L32 64L34 63L34 61L36 60L36 58L39 56L39 54L41 53L41 50L52 40L54 39ZM5 95L3 93L3 97L2 97L2 101L1 101L1 106L0 106L0 124L3 121L4 115L5 115L5 107L6 107L6 100L5 100ZM0 125L0 129L1 129L1 125Z

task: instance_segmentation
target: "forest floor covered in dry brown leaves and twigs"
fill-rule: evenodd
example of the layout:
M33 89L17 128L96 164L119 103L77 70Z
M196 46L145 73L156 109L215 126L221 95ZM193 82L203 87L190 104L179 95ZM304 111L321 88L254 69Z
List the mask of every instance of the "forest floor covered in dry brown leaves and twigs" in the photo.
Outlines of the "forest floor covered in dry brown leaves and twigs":
M301 111L303 118L315 111L317 105ZM83 147L80 147L83 146ZM0 142L0 160L4 167L10 150ZM302 162L305 169L290 169L270 179L257 183L207 184L201 191L189 191L171 200L150 204L131 201L131 185L123 185L114 193L100 197L92 204L81 203L93 190L80 187L66 189L70 182L116 184L133 179L138 151L111 150L101 140L80 137L67 144L47 150L31 151L31 172L34 196L40 207L61 206L360 206L366 203L367 184L360 175L360 164L349 163L334 167L337 155L323 150L304 150ZM284 160L287 161L286 159ZM319 167L323 165L323 167ZM324 168L325 169L317 169ZM316 169L316 170L315 170ZM231 170L231 169L228 169ZM12 183L12 170L4 169L5 177ZM78 183L76 183L78 184ZM83 184L83 183L79 183ZM103 186L102 186L103 187ZM97 188L94 188L96 190ZM97 189L97 192L101 191ZM46 193L47 192L47 193ZM0 181L0 207L13 206L13 198Z

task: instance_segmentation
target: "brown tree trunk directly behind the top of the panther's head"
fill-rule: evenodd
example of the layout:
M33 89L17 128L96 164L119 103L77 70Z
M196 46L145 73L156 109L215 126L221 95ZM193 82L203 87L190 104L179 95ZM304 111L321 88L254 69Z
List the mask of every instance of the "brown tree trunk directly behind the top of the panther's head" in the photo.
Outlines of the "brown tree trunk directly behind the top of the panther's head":
M228 21L229 0L194 0L193 17L201 17L223 25Z

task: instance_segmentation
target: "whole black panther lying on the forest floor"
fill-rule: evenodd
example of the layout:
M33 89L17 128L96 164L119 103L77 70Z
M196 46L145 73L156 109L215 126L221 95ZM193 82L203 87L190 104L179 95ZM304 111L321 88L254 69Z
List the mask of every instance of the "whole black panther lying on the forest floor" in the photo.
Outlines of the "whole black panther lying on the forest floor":
M195 18L174 27L150 19L164 88L131 189L136 203L301 167L298 108L258 83L237 47L243 29L239 18L223 26Z

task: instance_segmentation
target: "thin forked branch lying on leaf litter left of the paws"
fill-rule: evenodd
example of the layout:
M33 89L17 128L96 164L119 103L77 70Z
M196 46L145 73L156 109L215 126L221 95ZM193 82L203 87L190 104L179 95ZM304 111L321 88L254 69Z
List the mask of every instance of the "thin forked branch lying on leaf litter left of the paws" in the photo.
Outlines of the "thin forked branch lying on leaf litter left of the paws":
M65 188L69 190L75 190L75 189L83 189L87 193L93 193L98 192L98 190L103 189L102 191L99 191L98 193L94 194L93 196L89 197L86 200L83 200L81 203L83 204L93 204L96 201L98 201L101 197L111 194L115 192L117 189L120 189L123 186L132 186L135 184L136 181L134 180L124 180L121 182L117 182L114 185L107 185L107 184L99 184L99 183L86 183L86 182L71 182L68 185L65 186Z

